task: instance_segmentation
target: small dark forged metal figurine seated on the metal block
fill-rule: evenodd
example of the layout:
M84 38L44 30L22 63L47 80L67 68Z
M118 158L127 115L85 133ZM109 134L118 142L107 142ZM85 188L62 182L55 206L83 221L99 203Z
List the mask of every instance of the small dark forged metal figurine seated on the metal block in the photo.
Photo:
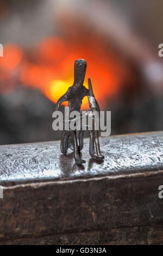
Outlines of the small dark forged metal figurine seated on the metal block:
M92 91L91 80L89 78L89 89L86 89L83 86L84 78L86 72L86 61L84 59L77 59L74 62L74 82L71 87L68 88L67 92L60 97L57 101L57 110L60 105L64 101L68 101L68 107L70 109L70 113L72 111L80 112L80 108L82 105L82 100L85 96L88 97L89 106L91 111L100 112L98 103L95 99L95 96ZM62 132L61 136L61 153L66 154L67 149L70 148L74 151L74 159L77 164L85 163L85 160L80 158L80 150L83 149L83 136L84 131L79 131L79 145L77 139L77 132L72 130L67 130ZM104 156L101 155L100 147L99 147L99 139L98 139L98 131L95 130L95 118L92 115L92 130L89 130L90 136L90 156L92 159L96 161L102 161ZM95 145L96 145L96 153L95 153Z

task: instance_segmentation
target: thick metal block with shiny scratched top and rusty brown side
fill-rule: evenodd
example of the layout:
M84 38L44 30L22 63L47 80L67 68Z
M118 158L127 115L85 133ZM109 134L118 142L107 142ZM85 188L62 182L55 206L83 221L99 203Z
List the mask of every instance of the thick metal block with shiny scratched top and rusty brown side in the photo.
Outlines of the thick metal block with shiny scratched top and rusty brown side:
M104 162L86 149L80 168L59 142L1 146L0 238L163 224L162 136L101 138Z

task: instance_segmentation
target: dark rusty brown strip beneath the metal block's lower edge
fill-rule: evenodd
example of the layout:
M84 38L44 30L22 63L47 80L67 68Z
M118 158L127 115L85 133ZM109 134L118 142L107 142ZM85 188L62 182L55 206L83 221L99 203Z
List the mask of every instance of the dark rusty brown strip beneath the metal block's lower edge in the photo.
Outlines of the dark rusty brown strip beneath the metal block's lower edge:
M0 240L0 245L163 245L162 232L162 225L151 225Z

